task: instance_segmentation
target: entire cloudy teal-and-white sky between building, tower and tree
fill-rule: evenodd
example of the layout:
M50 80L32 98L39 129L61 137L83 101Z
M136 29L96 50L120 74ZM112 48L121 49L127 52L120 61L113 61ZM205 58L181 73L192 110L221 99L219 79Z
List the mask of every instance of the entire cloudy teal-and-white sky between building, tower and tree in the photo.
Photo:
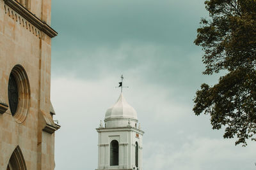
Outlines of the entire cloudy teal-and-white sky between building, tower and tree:
M202 49L195 46L202 0L54 0L51 101L56 170L96 169L100 120L120 95L137 111L144 170L255 169L256 143L235 146L209 115L193 113L202 83Z

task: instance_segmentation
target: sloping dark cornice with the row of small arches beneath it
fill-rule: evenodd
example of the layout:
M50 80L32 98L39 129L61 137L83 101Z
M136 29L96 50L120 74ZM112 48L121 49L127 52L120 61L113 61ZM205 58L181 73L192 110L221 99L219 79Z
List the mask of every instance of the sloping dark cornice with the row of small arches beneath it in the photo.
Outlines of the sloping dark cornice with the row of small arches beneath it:
M50 38L53 38L54 36L58 35L58 32L54 31L48 24L46 24L44 21L37 18L33 13L31 13L29 10L27 10L24 6L19 4L15 0L4 0L4 10L5 13L8 13L9 17L12 17L16 20L16 22L20 22L24 27L26 26L26 29L29 29L29 31L32 31L35 35L39 33L38 37L40 38L40 31L43 31L45 34L47 34ZM10 6L10 8L8 8ZM13 12L13 10L16 12ZM18 15L17 15L18 13ZM20 15L20 16L19 16ZM23 17L23 18L22 18ZM38 30L36 30L36 28Z

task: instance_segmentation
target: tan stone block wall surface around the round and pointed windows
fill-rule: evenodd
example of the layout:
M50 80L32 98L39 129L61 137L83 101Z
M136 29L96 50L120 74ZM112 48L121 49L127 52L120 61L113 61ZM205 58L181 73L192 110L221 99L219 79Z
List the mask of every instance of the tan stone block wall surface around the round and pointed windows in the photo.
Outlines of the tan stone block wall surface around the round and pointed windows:
M0 97L8 104L9 76L19 64L28 75L30 104L24 122L10 108L0 114L0 169L6 169L18 145L27 169L54 169L54 131L59 127L49 111L51 37L6 1L0 0ZM49 27L51 0L30 0L28 10Z

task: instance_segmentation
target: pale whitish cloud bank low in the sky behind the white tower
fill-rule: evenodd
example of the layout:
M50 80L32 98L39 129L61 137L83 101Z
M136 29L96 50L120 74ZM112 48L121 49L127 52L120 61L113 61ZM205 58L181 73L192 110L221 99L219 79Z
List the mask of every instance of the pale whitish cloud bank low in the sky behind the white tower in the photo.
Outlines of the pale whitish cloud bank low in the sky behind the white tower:
M51 99L55 118L61 124L56 132L56 170L97 167L95 128L118 98L115 80L113 75L93 81L67 76L53 78ZM234 146L233 139L222 139L222 132L211 131L207 117L193 116L188 103L175 101L175 96L167 97L168 89L133 81L145 87L132 87L124 94L138 112L145 131L145 170L254 168L253 143L247 148Z

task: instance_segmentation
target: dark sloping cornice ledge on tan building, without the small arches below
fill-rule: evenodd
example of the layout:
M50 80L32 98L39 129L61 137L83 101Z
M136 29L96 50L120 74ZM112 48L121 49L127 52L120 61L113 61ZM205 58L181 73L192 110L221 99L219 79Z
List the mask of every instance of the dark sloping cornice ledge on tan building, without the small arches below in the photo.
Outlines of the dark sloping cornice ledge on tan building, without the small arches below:
M19 13L22 17L26 18L31 24L35 25L40 31L43 31L47 36L50 38L54 38L54 36L58 35L58 32L56 32L54 29L52 29L48 24L46 24L44 21L37 18L33 13L31 13L29 10L24 8L21 4L19 4L15 0L4 0L4 3L10 8L12 8L14 11Z

